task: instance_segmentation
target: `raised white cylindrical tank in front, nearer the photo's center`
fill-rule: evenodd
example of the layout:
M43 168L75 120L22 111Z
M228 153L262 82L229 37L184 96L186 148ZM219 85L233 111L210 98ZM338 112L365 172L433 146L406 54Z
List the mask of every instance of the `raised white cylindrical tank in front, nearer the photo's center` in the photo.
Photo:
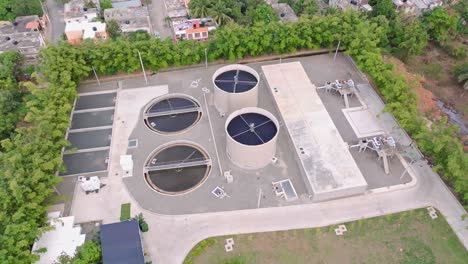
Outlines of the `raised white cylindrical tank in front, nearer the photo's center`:
M273 162L279 124L270 112L246 107L226 120L226 151L229 159L244 169L259 169Z

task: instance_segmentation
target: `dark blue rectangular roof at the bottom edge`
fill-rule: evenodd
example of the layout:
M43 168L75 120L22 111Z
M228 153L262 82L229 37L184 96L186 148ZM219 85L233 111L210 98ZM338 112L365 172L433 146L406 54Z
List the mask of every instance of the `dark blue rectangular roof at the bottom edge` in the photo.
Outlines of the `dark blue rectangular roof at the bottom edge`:
M137 220L101 226L104 264L144 264L140 227Z

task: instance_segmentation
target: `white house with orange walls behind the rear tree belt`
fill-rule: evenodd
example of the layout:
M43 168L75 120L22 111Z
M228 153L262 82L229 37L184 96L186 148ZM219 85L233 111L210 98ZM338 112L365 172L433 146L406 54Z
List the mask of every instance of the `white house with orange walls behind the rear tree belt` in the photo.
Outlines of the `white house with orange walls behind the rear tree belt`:
M216 29L216 23L211 18L180 19L172 21L174 40L180 39L204 41L209 38L209 32Z

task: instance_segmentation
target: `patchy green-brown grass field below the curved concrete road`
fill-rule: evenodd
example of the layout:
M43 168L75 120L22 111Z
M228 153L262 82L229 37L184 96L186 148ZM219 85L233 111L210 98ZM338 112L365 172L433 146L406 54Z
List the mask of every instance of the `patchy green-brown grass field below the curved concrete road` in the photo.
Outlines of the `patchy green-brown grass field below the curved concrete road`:
M209 238L185 259L189 263L466 263L468 252L440 215L432 220L426 209L337 226ZM234 238L226 252L225 239Z

